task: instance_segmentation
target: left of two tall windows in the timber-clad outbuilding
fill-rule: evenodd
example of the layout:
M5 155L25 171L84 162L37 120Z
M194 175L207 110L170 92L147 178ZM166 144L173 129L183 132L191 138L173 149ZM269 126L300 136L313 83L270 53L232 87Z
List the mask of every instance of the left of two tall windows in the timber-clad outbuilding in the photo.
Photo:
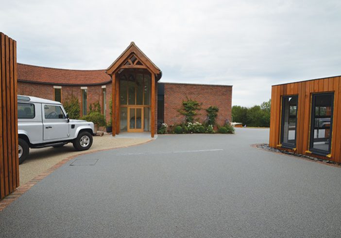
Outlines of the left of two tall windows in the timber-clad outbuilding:
M281 144L283 147L296 147L297 102L298 96L282 98Z

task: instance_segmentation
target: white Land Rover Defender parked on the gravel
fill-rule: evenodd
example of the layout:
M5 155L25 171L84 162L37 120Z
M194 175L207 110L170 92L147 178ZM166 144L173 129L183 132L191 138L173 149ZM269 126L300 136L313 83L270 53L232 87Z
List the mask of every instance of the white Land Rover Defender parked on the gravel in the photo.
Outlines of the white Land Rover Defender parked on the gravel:
M61 147L69 142L76 150L92 145L94 124L68 118L60 102L31 96L17 96L19 164L30 148Z

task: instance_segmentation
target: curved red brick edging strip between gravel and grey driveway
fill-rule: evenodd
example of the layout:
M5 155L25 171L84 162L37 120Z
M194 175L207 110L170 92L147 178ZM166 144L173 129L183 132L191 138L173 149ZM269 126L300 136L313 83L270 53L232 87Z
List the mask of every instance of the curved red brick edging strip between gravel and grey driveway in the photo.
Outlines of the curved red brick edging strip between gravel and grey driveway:
M147 144L149 142L153 141L152 139L146 142L138 143L135 145L131 146L140 146L143 144ZM105 150L111 150L111 149L119 149L119 148L127 148L130 146L119 146L119 147L114 147L114 148L106 148L106 149L99 149L99 150L93 150L93 151L87 151L85 153L79 153L75 155L68 156L67 158L63 159L62 161L59 161L57 164L53 165L49 169L47 169L45 172L39 174L38 176L35 176L32 180L29 182L20 185L17 187L16 190L14 190L11 194L7 195L4 197L2 200L0 200L0 212L5 209L7 206L9 206L13 201L16 201L21 195L23 195L25 192L31 189L35 184L40 182L41 180L45 179L47 176L49 176L51 173L54 172L57 168L61 167L62 165L66 164L68 161L80 156L80 155L85 155L85 154L92 154L100 151L105 151Z

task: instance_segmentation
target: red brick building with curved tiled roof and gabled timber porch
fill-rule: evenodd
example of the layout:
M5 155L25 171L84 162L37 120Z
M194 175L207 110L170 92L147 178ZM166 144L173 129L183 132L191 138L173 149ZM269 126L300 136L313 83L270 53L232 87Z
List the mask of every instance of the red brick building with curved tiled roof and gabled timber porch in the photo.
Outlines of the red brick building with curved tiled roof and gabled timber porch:
M187 98L202 103L205 109L219 108L217 122L231 120L232 86L159 82L161 70L132 42L106 70L65 70L17 64L18 94L66 102L73 95L80 102L81 116L89 105L99 102L110 120L112 100L113 135L120 131L150 131L157 125L179 124L184 117L177 111ZM153 116L152 116L153 115ZM128 119L129 118L129 119Z

